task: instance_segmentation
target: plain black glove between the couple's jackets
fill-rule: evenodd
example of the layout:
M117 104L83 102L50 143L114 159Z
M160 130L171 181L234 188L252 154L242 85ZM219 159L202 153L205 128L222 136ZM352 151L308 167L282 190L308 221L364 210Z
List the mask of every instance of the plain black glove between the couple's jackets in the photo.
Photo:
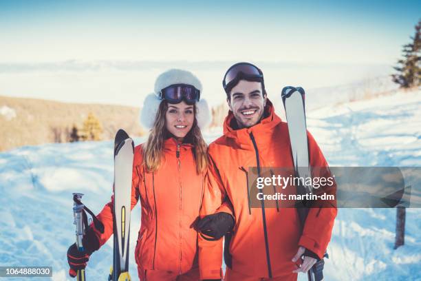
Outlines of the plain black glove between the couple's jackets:
M197 222L197 230L215 239L219 239L233 230L235 221L233 216L225 212L208 215Z

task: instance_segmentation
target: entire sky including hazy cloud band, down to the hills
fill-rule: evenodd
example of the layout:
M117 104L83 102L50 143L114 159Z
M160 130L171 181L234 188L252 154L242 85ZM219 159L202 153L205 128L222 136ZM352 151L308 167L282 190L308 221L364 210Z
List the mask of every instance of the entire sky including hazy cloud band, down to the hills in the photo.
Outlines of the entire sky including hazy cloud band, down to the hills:
M420 17L421 1L0 0L0 95L140 105L180 67L215 105L238 61L259 65L273 94L377 88L369 79L391 83Z

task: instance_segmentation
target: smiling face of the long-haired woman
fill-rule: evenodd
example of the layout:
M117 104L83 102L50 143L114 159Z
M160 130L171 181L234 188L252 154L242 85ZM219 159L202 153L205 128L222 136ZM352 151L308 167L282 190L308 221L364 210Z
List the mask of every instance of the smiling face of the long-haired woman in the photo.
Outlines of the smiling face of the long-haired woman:
M194 121L194 105L188 105L184 101L177 104L168 104L165 113L165 127L178 141L183 141L193 127Z

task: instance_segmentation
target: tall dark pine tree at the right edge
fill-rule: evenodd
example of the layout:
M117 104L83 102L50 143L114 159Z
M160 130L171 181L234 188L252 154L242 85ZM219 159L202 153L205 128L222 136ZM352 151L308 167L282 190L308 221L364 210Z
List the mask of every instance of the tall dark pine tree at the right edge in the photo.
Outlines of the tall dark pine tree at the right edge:
M402 88L418 87L421 83L421 20L415 25L415 36L412 43L403 46L404 59L393 67L398 74L392 75L392 80Z

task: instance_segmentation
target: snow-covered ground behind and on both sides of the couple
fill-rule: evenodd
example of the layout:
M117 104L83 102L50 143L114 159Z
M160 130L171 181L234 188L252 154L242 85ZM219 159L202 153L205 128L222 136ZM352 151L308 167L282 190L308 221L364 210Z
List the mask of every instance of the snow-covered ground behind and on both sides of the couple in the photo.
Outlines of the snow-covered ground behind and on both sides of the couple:
M420 90L397 92L307 112L307 123L332 166L420 167L420 109ZM205 134L207 141L218 135L217 130ZM74 242L72 192L84 193L83 202L100 211L111 195L112 151L111 141L105 141L21 147L0 154L1 266L52 266L53 280L72 280L66 258ZM405 245L396 251L395 216L395 209L340 209L325 280L421 280L421 210L407 209ZM131 219L134 280L139 222L137 206ZM111 250L110 239L91 256L89 280L107 278ZM304 275L299 279L306 280Z

